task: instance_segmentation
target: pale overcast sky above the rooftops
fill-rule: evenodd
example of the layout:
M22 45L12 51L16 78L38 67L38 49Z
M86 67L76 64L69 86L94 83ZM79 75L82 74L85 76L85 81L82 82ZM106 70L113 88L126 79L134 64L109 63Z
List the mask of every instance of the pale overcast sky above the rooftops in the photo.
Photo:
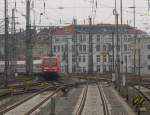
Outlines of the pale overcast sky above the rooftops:
M9 15L15 6L15 0L9 1ZM16 0L17 2L17 21L19 27L25 26L25 3L26 0ZM31 0L34 1L34 10L31 10L32 24L35 18L36 25L64 25L72 23L76 18L79 24L88 24L88 17L94 15L94 23L114 23L113 8L115 0L97 0L96 14L92 12L92 0ZM45 10L44 10L45 1ZM94 0L96 2L96 0ZM146 23L150 23L147 0L136 1L136 27L148 30ZM95 3L96 4L96 3ZM0 17L4 18L4 0L0 1ZM133 25L133 0L123 0L123 23ZM63 7L63 9L60 9ZM117 0L117 10L120 14L120 0ZM40 13L43 13L40 20ZM34 16L35 14L35 16Z

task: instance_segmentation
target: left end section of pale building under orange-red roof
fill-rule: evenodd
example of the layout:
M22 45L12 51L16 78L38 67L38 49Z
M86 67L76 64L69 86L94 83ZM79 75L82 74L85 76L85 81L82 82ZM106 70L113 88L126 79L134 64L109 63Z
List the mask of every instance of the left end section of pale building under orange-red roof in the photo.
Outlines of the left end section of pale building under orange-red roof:
M62 72L72 72L72 50L73 50L73 28L57 28L52 36L52 46L54 53L61 60Z

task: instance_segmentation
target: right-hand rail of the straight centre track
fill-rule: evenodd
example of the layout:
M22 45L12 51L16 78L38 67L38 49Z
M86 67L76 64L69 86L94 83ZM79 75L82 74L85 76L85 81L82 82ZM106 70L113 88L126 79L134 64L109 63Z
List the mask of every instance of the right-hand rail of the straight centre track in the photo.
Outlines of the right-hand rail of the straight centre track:
M104 95L104 92L103 92L103 88L102 88L102 85L99 82L97 82L97 87L98 87L98 90L99 90L99 93L100 93L100 96L101 96L104 115L110 115L109 108L108 108L108 105L107 105L107 101L106 101L106 98L105 98L105 95Z

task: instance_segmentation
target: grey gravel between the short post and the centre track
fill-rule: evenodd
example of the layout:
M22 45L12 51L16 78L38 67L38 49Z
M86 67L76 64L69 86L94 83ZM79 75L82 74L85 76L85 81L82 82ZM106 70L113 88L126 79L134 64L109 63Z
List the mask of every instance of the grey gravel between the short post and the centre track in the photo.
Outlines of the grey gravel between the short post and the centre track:
M67 95L56 98L56 115L72 115L82 87L73 88Z

